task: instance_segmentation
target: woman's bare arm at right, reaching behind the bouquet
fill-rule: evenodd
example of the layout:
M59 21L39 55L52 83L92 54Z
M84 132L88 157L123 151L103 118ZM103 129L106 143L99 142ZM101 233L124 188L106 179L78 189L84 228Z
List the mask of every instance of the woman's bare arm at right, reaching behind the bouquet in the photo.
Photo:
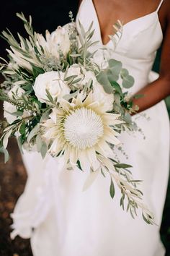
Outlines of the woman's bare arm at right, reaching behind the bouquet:
M145 88L138 91L143 95L142 98L133 98L133 104L138 105L139 111L143 111L155 105L159 101L170 95L170 13L166 18L166 31L161 53L160 76L158 80L146 85Z

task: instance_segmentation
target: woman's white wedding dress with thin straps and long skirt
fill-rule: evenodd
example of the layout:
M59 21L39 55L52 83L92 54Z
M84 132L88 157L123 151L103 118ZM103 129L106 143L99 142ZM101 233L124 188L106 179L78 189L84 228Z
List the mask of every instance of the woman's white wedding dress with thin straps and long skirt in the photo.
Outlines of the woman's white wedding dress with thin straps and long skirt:
M158 9L161 7L161 0ZM135 78L131 93L136 93L158 75L151 72L156 50L163 35L158 9L123 26L122 38L114 51L112 41L102 45L97 13L91 0L84 0L78 20L89 27L94 21L96 48L107 48L109 55L122 61ZM110 51L110 49L112 51ZM99 58L106 50L99 50ZM98 59L99 59L98 58ZM156 225L148 225L140 215L135 220L120 208L120 192L109 196L109 177L101 175L82 192L88 174L63 170L63 159L38 153L24 153L27 184L12 215L14 231L31 238L35 256L163 256L159 229L169 177L169 117L164 101L147 111L150 121L133 116L143 136L120 135L128 160L117 152L120 161L133 166L133 176L143 180L145 202L153 211Z

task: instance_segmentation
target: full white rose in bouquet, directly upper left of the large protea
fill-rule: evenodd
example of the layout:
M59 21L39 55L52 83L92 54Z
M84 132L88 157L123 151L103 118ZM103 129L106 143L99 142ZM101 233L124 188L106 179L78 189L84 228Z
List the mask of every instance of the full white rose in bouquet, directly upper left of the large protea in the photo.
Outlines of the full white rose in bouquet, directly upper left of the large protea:
M49 91L53 99L58 97L63 98L64 95L70 93L70 88L63 82L64 73L57 71L50 71L44 74L39 74L35 80L33 89L38 100L42 103L48 101L46 90Z

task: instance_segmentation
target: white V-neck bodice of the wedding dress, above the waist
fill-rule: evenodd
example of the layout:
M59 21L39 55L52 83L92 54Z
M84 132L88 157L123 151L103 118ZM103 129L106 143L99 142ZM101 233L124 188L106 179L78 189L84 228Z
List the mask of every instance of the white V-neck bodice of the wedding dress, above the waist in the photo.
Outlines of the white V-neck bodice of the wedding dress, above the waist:
M122 61L123 67L127 68L131 75L135 78L135 86L131 89L132 93L137 92L149 82L149 74L151 72L153 61L156 57L156 51L161 46L163 33L158 19L158 10L164 0L155 12L146 14L135 20L131 20L122 27L122 36L115 48L112 40L106 45L102 43L101 31L97 12L94 8L92 0L83 0L76 17L76 24L79 30L79 20L88 30L89 25L93 21L95 29L92 40L99 41L95 48L100 49L98 55L102 56L106 49L109 51L109 58ZM79 30L81 33L81 30ZM91 50L94 50L92 48Z

